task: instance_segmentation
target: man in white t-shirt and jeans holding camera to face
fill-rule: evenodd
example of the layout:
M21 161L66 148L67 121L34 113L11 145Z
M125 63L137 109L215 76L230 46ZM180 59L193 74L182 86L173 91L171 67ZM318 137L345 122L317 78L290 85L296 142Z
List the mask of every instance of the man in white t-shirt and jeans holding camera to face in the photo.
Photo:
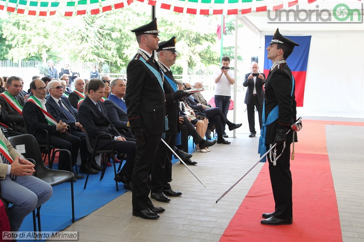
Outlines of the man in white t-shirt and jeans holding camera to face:
M223 56L221 60L221 68L215 71L214 81L215 87L215 106L220 108L222 113L227 118L227 112L229 111L231 100L231 85L234 85L234 71L230 70L230 58ZM229 136L225 133L226 123L222 124L224 134L223 138Z

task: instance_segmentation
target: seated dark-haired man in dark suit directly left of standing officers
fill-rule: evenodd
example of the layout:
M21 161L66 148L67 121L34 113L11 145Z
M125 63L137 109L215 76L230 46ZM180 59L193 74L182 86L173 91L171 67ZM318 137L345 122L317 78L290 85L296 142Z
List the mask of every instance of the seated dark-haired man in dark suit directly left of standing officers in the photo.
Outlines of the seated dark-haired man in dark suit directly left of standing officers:
M105 105L101 101L104 91L105 83L100 79L94 78L88 82L88 96L79 106L78 118L88 134L92 147L94 147L98 135L111 134L114 139L112 141L114 150L127 154L126 163L115 179L118 182L123 182L125 189L132 190L131 177L134 168L135 142L126 141L125 137L122 137L114 124L110 122ZM111 142L108 138L100 138L96 149L110 149L110 146Z

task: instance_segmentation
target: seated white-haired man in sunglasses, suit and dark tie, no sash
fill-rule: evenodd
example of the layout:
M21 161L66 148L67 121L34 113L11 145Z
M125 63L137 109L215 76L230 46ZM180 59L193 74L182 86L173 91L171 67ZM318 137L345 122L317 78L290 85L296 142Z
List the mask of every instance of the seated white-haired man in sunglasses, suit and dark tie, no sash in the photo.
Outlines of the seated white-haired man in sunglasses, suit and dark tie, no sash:
M88 163L90 163L92 154L88 152L86 136L83 132L82 125L78 122L78 111L76 108L72 107L70 101L63 96L62 84L57 79L48 83L48 90L50 95L46 98L47 110L55 120L62 120L62 122L70 126L71 130L68 132L70 132L71 135L77 136L81 139L80 172L87 173ZM92 161L90 174L97 174L99 171L102 171L102 167L96 164L95 161Z

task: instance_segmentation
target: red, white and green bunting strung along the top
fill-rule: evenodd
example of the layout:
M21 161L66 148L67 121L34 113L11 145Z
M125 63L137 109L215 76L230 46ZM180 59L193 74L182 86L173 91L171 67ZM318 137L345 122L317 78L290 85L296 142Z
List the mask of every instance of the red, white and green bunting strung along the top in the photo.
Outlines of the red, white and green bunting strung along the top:
M278 10L292 7L299 3L314 3L317 0L137 0L159 8L172 10L179 13L199 15L235 15L241 12ZM362 1L362 0L358 0ZM50 16L62 9L64 16L84 15L90 11L91 15L110 11L113 8L123 8L133 3L133 0L66 0L48 2L46 0L0 0L0 10L20 14ZM268 8L267 8L268 4ZM76 14L75 14L76 13Z

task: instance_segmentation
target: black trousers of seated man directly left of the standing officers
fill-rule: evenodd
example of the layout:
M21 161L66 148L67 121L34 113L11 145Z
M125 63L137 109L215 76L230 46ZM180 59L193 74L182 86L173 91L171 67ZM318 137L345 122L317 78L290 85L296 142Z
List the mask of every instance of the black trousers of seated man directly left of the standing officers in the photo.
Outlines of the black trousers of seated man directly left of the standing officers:
M125 176L127 182L131 181L135 160L135 142L113 140L112 147L115 152L127 154L125 164L121 168L120 173ZM100 150L103 149L111 149L111 142L100 148ZM114 157L111 157L111 159L114 159Z

